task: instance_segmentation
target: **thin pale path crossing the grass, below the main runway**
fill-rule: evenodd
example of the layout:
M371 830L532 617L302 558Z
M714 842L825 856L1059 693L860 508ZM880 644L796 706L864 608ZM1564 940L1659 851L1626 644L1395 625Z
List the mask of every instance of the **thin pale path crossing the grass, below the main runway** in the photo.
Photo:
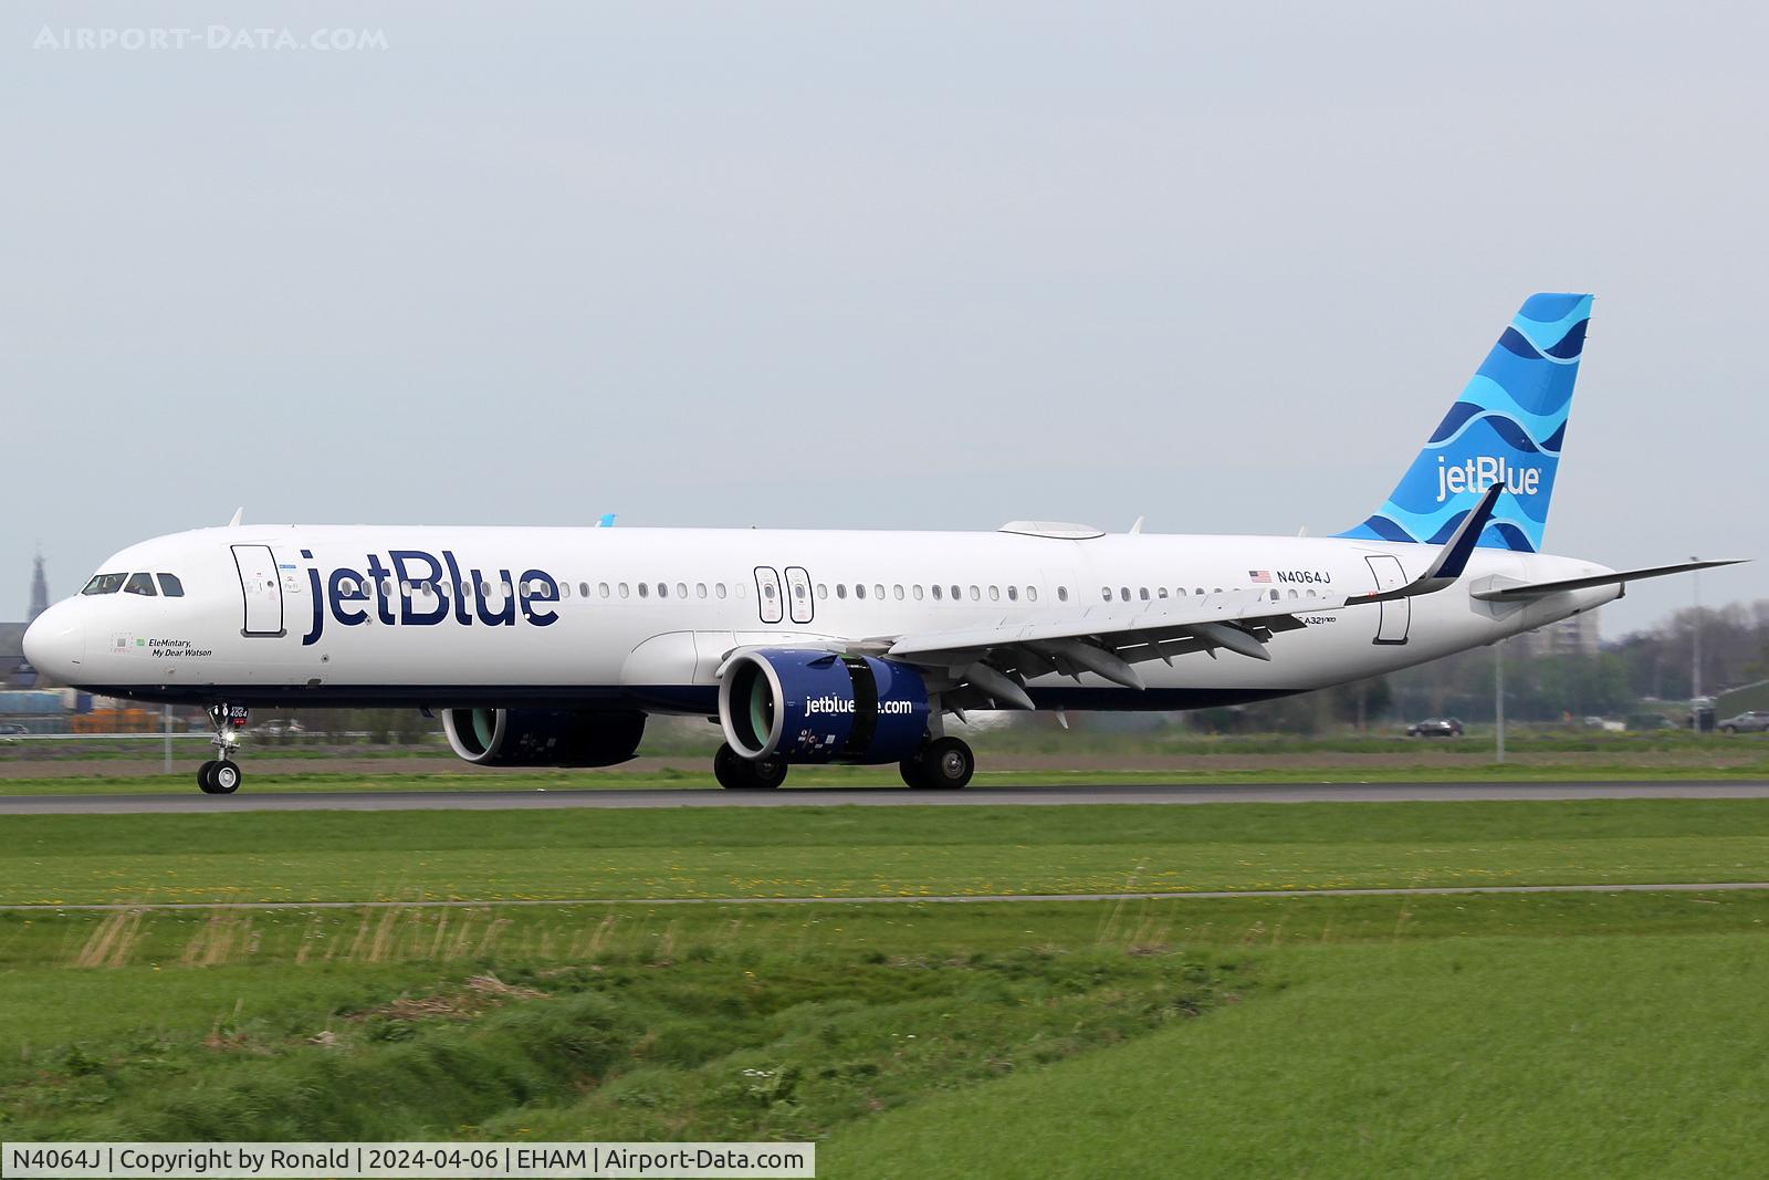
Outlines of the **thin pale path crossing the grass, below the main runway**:
M1665 881L1659 885L1421 885L1371 890L1199 890L1196 893L943 893L929 897L559 897L518 900L410 900L410 902L88 902L80 906L0 906L0 911L147 909L486 909L557 906L915 906L975 902L1109 902L1109 900L1224 900L1231 897L1454 897L1467 893L1732 893L1769 890L1769 881Z

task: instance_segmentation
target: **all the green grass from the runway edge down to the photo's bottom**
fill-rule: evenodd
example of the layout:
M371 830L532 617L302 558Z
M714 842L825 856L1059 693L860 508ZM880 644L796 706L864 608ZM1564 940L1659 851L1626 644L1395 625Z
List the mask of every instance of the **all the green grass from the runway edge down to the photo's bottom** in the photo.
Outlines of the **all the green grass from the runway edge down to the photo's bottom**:
M819 1175L1732 1176L1769 801L9 816L7 1139L814 1139ZM363 1095L373 1095L364 1102Z

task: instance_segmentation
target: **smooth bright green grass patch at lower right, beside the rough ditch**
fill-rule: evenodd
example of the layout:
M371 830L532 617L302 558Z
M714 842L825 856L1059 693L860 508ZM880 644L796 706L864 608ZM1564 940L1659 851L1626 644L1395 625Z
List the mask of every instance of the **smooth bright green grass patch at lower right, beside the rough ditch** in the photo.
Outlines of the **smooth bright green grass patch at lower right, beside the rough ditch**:
M842 1127L817 1162L867 1176L1762 1168L1760 931L1291 946L1261 969L1291 985Z

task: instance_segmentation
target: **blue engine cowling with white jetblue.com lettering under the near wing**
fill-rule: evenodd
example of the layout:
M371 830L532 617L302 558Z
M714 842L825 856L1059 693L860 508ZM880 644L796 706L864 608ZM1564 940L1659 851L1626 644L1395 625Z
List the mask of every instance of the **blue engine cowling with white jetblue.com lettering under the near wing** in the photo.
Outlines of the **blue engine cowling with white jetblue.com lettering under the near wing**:
M927 736L927 685L892 660L745 651L718 683L718 724L741 757L899 762Z

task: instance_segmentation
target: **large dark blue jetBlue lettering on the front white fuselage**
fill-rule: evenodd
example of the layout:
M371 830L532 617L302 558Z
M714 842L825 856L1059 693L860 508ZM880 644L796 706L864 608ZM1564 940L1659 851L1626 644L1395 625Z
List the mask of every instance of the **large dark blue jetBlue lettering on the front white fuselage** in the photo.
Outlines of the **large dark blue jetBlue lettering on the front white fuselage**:
M301 556L313 561L313 550L302 548ZM495 580L478 568L462 575L460 561L446 548L440 559L421 548L393 548L387 550L386 564L379 554L366 554L361 570L338 566L320 575L318 568L310 568L308 587L313 591L313 630L301 637L302 647L320 640L327 610L340 626L361 626L368 623L370 601L375 621L384 626L437 626L449 621L472 626L474 617L481 626L515 626L518 610L534 626L559 621L547 609L547 603L559 601L559 582L545 570L524 570L518 579L511 579L509 570L497 570ZM492 593L472 587L490 587ZM501 600L495 610L494 600Z

